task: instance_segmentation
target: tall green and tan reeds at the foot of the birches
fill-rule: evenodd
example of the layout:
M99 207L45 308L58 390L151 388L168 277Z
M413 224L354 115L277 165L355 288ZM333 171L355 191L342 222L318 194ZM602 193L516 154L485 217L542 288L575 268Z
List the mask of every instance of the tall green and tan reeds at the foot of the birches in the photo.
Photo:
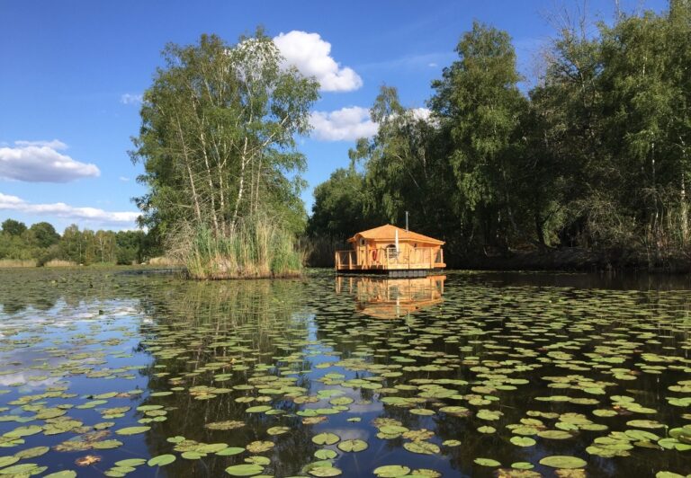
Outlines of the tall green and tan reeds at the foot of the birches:
M302 253L294 235L268 217L246 220L225 235L214 235L208 227L200 226L177 237L172 252L193 279L259 279L301 274Z

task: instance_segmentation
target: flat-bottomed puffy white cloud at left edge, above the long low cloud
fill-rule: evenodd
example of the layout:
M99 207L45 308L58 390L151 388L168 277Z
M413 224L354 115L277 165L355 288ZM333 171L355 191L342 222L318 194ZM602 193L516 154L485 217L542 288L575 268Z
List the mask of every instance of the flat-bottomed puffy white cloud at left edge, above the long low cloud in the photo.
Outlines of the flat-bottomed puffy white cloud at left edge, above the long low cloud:
M27 182L68 182L96 177L95 164L75 161L58 153L67 145L52 141L16 141L14 147L0 147L0 179Z

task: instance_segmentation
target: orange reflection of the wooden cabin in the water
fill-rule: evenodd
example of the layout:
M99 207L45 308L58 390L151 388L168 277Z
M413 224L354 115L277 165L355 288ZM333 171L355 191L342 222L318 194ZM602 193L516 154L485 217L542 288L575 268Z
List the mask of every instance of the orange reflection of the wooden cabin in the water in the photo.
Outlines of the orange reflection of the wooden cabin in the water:
M444 299L446 276L410 279L336 278L336 293L355 296L357 310L381 319L396 319Z

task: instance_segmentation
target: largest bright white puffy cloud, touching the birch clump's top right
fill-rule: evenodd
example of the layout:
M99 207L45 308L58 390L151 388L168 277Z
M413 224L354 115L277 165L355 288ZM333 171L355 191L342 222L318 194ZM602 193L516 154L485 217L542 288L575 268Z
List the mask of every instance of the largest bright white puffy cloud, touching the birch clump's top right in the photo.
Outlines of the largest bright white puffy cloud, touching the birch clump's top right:
M315 76L322 91L350 92L363 85L363 79L352 68L341 66L330 56L331 44L319 33L289 31L274 37L285 63L294 65L303 75Z

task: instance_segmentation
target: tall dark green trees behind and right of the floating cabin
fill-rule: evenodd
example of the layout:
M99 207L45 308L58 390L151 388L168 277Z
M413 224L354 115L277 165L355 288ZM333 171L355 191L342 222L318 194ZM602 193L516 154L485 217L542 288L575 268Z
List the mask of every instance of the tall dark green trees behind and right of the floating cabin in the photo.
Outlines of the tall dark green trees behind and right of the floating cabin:
M474 22L432 83L430 112L393 86L379 130L315 190L311 237L402 224L448 257L522 248L686 254L691 173L691 2L620 13L588 34L562 25L528 92L506 31Z

